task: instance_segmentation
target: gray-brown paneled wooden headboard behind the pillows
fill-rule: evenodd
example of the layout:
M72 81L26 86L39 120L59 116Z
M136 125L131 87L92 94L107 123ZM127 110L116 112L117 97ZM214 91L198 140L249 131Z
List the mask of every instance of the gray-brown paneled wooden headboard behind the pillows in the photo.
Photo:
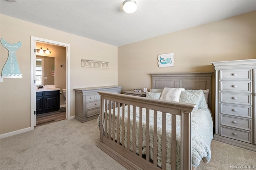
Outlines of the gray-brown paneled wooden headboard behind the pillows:
M213 72L150 74L153 89L164 87L191 90L209 89L208 107L211 109L211 78Z

